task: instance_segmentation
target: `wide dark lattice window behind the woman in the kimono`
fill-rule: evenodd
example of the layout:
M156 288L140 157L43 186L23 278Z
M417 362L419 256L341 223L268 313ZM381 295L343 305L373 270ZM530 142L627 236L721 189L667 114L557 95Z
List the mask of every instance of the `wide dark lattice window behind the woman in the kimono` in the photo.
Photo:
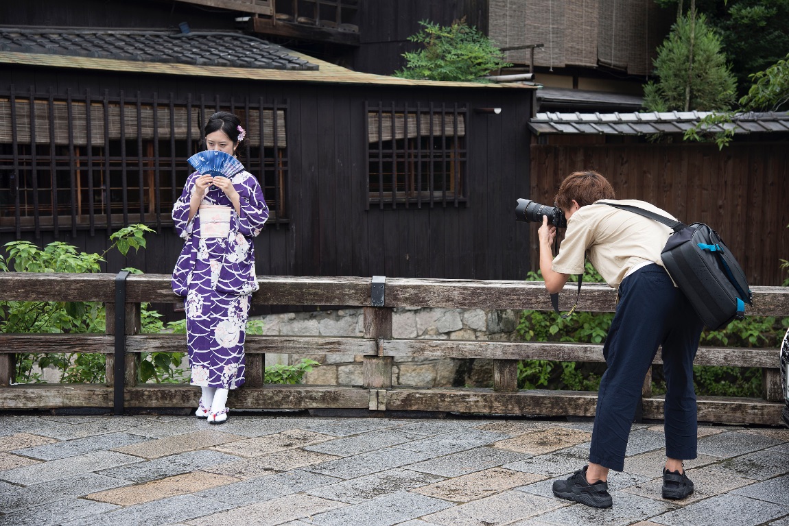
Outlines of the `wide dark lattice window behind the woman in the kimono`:
M229 110L248 129L238 157L286 218L285 105L0 92L0 229L93 229L170 222L200 151L200 128ZM30 100L34 101L31 107Z

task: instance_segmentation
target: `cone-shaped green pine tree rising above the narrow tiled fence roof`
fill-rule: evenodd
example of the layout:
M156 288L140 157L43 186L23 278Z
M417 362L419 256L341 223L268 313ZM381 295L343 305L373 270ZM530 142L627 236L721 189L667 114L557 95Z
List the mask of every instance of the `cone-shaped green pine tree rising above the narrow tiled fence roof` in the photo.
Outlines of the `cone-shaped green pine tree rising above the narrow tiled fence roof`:
M658 80L644 88L646 110L727 110L735 102L737 83L720 37L695 9L678 18L657 51Z

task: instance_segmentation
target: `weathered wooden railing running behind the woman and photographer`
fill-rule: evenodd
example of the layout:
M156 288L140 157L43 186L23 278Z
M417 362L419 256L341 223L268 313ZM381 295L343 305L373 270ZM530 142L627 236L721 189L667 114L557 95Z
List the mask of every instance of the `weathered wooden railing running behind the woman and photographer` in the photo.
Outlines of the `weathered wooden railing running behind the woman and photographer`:
M456 341L392 338L396 307L551 310L541 282L387 278L260 278L253 302L286 305L364 307L362 338L257 336L246 339L243 389L230 394L230 407L305 409L353 408L374 411L428 411L529 416L593 416L596 393L518 390L518 360L602 362L602 345L532 341ZM378 282L377 284L375 282ZM372 293L373 285L378 287ZM567 310L574 293L562 294ZM381 290L383 288L383 290ZM380 293L383 292L383 302ZM187 408L196 388L139 382L140 353L184 352L179 334L139 334L140 303L176 303L170 276L162 274L0 273L0 300L101 301L107 306L107 334L0 334L0 409ZM372 306L373 300L380 307ZM117 305L123 304L122 311ZM578 308L613 311L615 291L587 284ZM747 315L789 315L789 288L753 287ZM116 330L116 328L118 330ZM117 334L116 334L117 333ZM106 385L11 385L14 353L107 354ZM364 356L361 386L264 385L264 354ZM123 356L115 360L116 355ZM393 386L394 356L488 358L494 361L493 389ZM655 364L660 364L660 352ZM699 397L699 420L720 423L778 423L783 406L777 349L701 347L695 364L761 367L762 398ZM122 378L122 382L116 379ZM642 393L644 418L663 417L664 398L653 395L649 375Z

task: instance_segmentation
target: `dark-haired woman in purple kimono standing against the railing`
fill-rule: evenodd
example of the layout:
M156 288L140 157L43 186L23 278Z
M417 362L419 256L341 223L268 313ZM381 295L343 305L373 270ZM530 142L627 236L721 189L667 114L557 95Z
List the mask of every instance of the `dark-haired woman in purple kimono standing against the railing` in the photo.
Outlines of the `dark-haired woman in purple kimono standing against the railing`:
M229 155L246 134L226 111L211 115L204 132L208 150ZM203 390L196 416L209 423L227 420L228 390L244 383L249 300L258 289L252 237L267 218L263 191L247 171L230 178L193 173L173 205L185 243L172 285L185 297L190 383Z

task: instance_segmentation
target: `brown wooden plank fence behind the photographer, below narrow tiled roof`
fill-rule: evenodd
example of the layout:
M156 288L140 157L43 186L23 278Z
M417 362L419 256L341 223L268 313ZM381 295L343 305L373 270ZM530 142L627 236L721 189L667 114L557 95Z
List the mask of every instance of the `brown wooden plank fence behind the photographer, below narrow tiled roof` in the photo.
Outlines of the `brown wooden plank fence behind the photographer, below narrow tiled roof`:
M786 143L534 144L531 196L553 203L559 183L575 170L598 170L619 199L640 199L704 222L734 252L751 285L780 285L789 259L789 155ZM597 137L600 141L602 138ZM571 141L570 141L571 142ZM587 144L583 144L587 143ZM530 248L536 270L537 227Z

